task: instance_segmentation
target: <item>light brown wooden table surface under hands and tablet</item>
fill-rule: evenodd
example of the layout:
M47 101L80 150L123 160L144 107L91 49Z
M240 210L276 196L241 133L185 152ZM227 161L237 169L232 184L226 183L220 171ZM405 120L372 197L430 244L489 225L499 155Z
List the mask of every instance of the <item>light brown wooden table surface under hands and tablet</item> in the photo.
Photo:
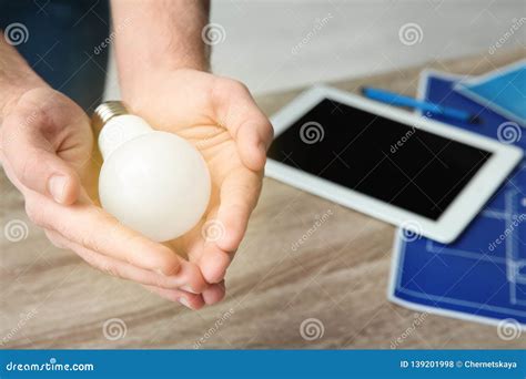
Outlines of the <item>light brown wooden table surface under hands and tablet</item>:
M426 66L481 74L524 55L524 51L498 52ZM356 92L367 83L414 94L422 69L331 84ZM299 91L266 95L259 103L272 114ZM394 228L273 180L265 180L229 272L227 298L200 311L113 279L77 255L54 248L30 225L20 194L3 173L0 183L0 225L20 219L29 226L20 242L0 237L3 347L390 348L398 337L403 337L398 348L526 347L526 334L504 341L495 327L419 315L388 303ZM322 217L325 221L308 233L307 242L294 248ZM421 322L412 328L415 317ZM301 336L300 327L310 318L320 320L323 336L314 336L320 338ZM105 322L114 327L108 329L109 338ZM315 335L315 326L311 331Z

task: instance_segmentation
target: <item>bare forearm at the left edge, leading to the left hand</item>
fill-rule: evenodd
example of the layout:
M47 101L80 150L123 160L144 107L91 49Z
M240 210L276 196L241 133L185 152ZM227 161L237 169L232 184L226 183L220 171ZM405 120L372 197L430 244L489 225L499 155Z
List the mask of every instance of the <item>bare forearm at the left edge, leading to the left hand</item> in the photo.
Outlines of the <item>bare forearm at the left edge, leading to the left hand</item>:
M0 38L0 122L26 91L44 85L17 49Z

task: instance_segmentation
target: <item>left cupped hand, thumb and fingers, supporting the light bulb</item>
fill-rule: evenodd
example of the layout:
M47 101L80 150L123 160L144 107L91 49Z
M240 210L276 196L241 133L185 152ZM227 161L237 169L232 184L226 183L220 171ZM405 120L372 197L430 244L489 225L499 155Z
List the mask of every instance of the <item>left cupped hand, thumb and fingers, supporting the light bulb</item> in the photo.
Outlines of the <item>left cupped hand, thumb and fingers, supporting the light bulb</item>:
M194 309L203 306L196 294L208 285L194 263L95 205L100 160L93 160L89 119L74 102L42 84L12 99L3 111L1 163L23 194L30 219L53 244L172 300Z

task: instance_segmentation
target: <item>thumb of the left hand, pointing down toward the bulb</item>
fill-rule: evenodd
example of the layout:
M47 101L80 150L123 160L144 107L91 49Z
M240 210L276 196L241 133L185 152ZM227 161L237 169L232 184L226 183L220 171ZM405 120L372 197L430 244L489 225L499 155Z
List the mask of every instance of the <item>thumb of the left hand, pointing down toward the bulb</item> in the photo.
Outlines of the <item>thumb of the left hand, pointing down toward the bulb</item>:
M77 172L57 155L40 125L24 114L6 117L2 125L3 157L20 183L51 196L60 204L72 204L80 192Z

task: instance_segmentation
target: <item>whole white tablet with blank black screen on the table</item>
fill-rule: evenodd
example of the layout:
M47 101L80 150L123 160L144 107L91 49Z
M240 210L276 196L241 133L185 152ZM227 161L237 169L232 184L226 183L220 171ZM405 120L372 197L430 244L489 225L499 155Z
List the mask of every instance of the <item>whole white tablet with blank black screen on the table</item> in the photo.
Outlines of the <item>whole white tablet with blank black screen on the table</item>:
M441 243L459 235L523 156L326 86L302 93L272 124L267 176Z

